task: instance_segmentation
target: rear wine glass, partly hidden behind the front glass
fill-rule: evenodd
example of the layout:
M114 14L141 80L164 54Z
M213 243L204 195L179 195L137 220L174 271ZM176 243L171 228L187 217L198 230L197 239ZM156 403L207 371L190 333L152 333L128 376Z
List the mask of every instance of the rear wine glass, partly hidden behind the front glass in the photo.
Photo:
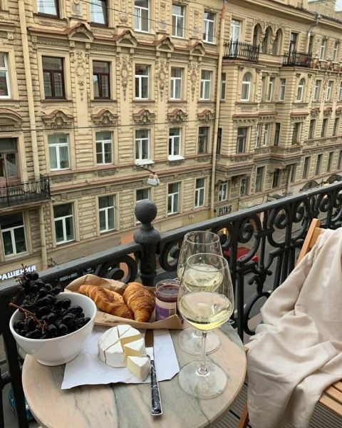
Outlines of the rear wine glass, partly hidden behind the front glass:
M177 276L182 280L183 270L190 255L197 253L213 253L222 255L222 247L219 242L219 236L207 230L197 230L185 235L180 248L178 258ZM192 355L201 355L202 334L190 327L183 330L178 336L178 343L183 351ZM208 332L207 335L207 354L217 350L219 347L219 337L214 332Z

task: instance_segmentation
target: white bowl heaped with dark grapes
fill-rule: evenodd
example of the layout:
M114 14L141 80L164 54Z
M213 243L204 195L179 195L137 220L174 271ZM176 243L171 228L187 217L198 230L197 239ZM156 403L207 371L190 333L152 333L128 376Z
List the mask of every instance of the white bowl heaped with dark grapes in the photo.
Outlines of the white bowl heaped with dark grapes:
M42 365L66 364L77 357L93 330L96 306L93 300L74 292L61 292L41 280L37 272L19 279L24 300L16 308L9 327L20 350Z

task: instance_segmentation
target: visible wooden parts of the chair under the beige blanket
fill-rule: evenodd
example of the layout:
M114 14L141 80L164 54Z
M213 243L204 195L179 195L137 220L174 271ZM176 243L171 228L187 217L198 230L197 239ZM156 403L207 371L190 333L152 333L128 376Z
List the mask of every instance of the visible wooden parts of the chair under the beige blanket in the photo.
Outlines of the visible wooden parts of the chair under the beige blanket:
M309 253L311 248L314 247L318 236L321 234L322 229L319 227L321 225L321 221L318 218L314 218L311 221L311 225L309 227L308 233L304 240L303 246L301 247L301 253L299 253L299 257L297 259L298 263L304 258L304 256ZM248 347L246 347L246 352L248 351ZM342 417L342 379L330 387L326 388L319 399L319 402L323 404L324 407L330 409L338 416ZM242 414L239 420L238 428L247 428L249 422L249 415L247 409L247 403L244 404L244 409L242 410Z

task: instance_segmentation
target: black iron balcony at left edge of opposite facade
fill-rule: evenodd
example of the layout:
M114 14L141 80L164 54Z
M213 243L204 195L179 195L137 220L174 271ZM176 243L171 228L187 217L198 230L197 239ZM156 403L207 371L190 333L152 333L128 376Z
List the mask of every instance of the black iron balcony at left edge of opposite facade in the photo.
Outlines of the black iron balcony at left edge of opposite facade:
M0 208L42 202L50 198L50 180L43 175L36 181L0 186Z

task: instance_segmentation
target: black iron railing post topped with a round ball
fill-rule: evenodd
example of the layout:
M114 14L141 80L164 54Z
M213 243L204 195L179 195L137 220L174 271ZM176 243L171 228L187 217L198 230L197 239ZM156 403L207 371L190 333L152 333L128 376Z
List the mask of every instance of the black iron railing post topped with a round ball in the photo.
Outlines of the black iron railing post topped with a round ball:
M152 287L156 272L156 253L160 243L160 233L152 226L157 216L157 205L152 200L141 200L135 206L135 217L141 222L141 227L134 234L136 243L142 246L139 260L140 277L143 285Z

